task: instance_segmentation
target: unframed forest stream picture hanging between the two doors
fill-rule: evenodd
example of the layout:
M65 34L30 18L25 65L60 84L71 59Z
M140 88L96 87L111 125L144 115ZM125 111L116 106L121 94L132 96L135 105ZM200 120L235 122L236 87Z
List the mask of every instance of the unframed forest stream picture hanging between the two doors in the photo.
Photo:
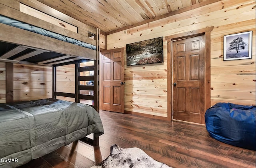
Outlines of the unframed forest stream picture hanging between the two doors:
M164 62L163 38L126 44L127 66Z

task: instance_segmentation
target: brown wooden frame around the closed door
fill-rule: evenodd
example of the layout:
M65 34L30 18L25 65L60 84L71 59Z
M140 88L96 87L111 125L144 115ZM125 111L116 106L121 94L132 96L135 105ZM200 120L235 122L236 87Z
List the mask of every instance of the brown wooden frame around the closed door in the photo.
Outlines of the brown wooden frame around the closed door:
M172 121L172 113L173 113L173 92L172 92L172 70L173 70L173 54L172 54L172 42L176 40L181 40L184 38L191 38L195 36L204 35L205 38L205 63L204 63L204 111L210 108L211 100L210 100L210 87L211 87L211 74L210 74L210 59L211 59L211 31L213 30L214 26L208 28L202 28L198 30L193 30L189 32L184 32L180 34L174 34L171 36L166 36L165 39L167 40L167 118L169 121ZM185 122L185 121L184 121Z

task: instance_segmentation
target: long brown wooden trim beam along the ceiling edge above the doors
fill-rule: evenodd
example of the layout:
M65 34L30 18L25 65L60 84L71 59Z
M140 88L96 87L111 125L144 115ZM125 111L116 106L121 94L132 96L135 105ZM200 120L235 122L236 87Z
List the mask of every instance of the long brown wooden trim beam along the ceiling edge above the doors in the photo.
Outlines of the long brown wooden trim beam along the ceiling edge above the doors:
M141 25L147 24L149 22L154 22L156 20L160 20L160 19L163 19L163 18L166 18L166 17L170 17L170 16L173 16L173 15L176 15L176 14L180 14L182 12L186 12L186 11L189 11L189 10L200 8L202 6L205 6L205 5L208 5L208 4L212 4L212 3L215 3L215 2L218 2L218 1L221 1L221 0L207 0L207 1L203 1L203 2L198 3L198 4L194 4L192 6L188 6L186 8L182 8L182 9L170 12L170 13L163 14L162 16L156 16L155 18L152 18L152 19L147 19L147 20L144 20L142 22L138 22L136 24L132 24L132 25L129 25L129 26L125 26L125 27L119 28L117 30L113 30L113 31L107 32L106 35L113 34L113 33L116 33L116 32L121 32L121 31L130 29L130 28L134 28L136 26L141 26Z

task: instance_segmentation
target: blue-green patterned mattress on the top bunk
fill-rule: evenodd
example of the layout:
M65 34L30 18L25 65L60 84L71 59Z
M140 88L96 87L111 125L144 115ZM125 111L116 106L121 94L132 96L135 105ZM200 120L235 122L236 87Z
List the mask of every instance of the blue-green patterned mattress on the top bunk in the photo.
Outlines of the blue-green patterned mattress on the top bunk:
M44 35L44 36L47 36L47 37L62 40L64 42L69 42L69 43L72 43L72 44L75 44L75 45L78 45L78 46L82 46L82 47L85 47L85 48L89 48L89 49L92 49L92 50L96 50L96 46L94 46L92 44L88 44L86 42L82 42L82 41L76 40L74 38L63 36L61 34L57 34L57 33L51 32L49 30L45 30L43 28L33 26L33 25L30 25L30 24L27 24L27 23L24 23L24 22L20 22L18 20L14 20L12 18L3 16L3 15L0 15L0 23L6 24L6 25L9 25L9 26L13 26L13 27L16 27L16 28L20 28L20 29L23 29L23 30L28 30L30 32L41 34L41 35Z

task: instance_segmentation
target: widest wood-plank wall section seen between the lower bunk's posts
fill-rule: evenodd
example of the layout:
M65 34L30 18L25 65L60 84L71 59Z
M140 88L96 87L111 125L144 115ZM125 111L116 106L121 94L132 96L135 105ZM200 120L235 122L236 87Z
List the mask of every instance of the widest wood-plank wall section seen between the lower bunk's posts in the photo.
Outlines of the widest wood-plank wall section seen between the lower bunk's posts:
M14 101L52 98L52 67L14 64Z

